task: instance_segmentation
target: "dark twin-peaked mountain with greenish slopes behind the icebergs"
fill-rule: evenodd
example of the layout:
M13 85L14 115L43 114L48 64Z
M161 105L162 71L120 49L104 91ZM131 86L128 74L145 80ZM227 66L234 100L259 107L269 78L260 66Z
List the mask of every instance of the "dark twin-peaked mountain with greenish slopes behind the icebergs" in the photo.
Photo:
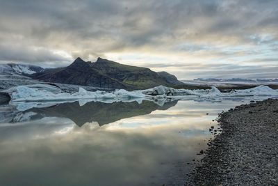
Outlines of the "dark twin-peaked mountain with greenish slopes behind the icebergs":
M154 72L149 68L122 65L115 61L98 58L86 62L77 58L65 68L44 69L30 77L44 82L97 86L101 88L146 89L154 86L183 84L167 72Z

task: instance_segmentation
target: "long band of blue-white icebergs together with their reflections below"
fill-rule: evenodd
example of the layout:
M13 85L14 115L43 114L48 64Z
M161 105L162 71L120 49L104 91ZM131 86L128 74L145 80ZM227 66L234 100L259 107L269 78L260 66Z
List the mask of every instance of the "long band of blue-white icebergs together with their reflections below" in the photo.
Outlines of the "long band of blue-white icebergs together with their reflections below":
M163 104L168 100L208 100L221 101L227 98L239 98L254 96L278 97L278 91L268 86L257 86L245 90L234 90L222 93L218 88L211 89L175 89L166 86L156 86L141 91L126 91L124 89L115 91L86 91L79 87L75 93L65 93L56 86L48 84L34 84L26 86L17 86L6 91L9 93L11 103L17 105L17 109L24 111L32 107L49 107L51 105L79 101L83 105L86 102L133 102L141 103L142 100L150 100L156 104Z

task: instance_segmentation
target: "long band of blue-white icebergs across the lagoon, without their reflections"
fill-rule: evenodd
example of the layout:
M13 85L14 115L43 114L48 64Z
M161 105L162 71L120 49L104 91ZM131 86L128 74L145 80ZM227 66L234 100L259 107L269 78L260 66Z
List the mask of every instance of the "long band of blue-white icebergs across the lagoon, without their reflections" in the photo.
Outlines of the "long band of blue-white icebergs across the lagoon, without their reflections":
M218 88L211 89L174 89L166 86L157 86L143 91L126 91L124 89L115 91L86 91L79 88L76 93L61 92L59 88L47 84L36 84L28 86L17 86L10 88L7 93L10 94L13 102L43 102L58 100L129 100L129 99L161 99L174 97L188 97L189 95L200 98L218 98L227 96L267 96L278 95L277 90L273 90L268 86L257 86L245 90L234 90L228 93L222 93Z

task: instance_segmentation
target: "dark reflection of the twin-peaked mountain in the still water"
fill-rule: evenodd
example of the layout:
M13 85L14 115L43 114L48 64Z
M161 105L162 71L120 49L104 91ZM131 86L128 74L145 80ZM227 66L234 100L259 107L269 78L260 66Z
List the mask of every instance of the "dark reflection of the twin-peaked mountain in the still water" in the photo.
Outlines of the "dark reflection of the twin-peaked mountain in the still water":
M23 113L16 113L10 123L18 121L20 114L22 118L30 118L30 120L37 120L44 117L60 117L70 118L76 125L81 127L85 123L91 123L96 121L99 125L105 125L113 123L122 118L130 118L133 116L140 116L150 114L152 111L166 110L177 104L177 100L172 102L165 102L163 106L144 100L141 104L138 102L88 102L83 106L79 105L79 102L68 102L63 104L56 104L52 107L46 108L33 108ZM29 116L28 116L29 115ZM20 121L19 121L20 122Z

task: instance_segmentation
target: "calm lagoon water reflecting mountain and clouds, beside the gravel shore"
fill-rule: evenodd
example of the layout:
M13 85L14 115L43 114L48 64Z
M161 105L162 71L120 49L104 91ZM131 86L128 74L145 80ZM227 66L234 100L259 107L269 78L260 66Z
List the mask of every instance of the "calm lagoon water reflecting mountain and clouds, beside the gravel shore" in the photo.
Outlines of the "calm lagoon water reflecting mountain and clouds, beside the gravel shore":
M187 163L201 158L212 137L212 120L238 104L2 105L0 185L183 185L193 166Z

